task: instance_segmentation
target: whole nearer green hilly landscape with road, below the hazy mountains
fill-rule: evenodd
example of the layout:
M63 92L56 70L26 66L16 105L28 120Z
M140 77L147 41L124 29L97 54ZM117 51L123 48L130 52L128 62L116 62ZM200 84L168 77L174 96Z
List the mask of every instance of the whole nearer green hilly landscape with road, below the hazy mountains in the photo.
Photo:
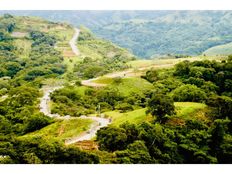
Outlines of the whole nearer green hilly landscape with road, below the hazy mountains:
M231 162L229 54L145 60L84 26L0 24L1 163Z

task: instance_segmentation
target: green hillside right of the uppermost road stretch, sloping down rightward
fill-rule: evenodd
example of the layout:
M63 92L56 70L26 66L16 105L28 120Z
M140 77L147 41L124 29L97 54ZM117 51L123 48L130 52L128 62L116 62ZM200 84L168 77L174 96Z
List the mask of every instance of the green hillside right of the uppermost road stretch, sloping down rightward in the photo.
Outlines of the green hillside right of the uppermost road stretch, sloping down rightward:
M74 74L80 78L93 78L113 71L127 69L126 64L136 57L124 48L97 38L85 27L80 28L77 44L81 61L74 65Z

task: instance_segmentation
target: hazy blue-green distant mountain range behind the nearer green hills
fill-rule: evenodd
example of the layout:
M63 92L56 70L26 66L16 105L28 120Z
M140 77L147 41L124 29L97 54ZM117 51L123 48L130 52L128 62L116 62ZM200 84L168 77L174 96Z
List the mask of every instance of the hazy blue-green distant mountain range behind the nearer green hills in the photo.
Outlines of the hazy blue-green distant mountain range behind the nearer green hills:
M3 13L85 25L97 36L143 58L198 55L232 42L232 11L0 11ZM227 49L225 54L232 51Z

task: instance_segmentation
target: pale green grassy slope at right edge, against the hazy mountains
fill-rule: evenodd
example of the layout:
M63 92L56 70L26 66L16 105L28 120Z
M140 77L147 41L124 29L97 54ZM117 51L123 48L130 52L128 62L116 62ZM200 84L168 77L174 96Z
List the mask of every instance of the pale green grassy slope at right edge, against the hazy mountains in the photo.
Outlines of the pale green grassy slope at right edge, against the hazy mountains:
M203 54L207 56L215 56L215 55L230 55L232 54L232 43L218 45L212 48L209 48Z

